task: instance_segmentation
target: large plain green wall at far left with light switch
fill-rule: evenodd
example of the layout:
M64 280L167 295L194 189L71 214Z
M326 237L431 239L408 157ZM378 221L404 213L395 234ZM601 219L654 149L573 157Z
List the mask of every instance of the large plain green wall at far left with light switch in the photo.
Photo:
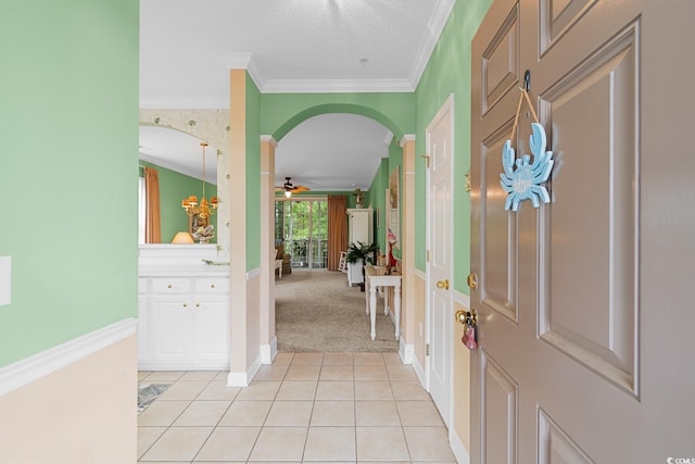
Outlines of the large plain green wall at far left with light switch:
M0 14L0 366L137 316L138 0ZM29 188L27 188L27 185Z

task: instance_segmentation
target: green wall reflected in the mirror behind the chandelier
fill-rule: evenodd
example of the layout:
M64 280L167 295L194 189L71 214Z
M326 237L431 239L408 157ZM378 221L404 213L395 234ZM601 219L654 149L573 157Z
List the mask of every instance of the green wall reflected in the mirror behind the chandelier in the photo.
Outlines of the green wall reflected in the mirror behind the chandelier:
M203 196L203 183L195 177L187 176L156 164L144 161L140 161L140 164L154 167L159 172L162 243L170 243L177 231L188 230L188 215L181 208L181 200L191 195L200 199ZM205 183L205 195L208 200L211 197L216 197L217 186ZM216 243L218 229L216 215L212 217L212 224L215 226L215 237L211 240L211 243Z

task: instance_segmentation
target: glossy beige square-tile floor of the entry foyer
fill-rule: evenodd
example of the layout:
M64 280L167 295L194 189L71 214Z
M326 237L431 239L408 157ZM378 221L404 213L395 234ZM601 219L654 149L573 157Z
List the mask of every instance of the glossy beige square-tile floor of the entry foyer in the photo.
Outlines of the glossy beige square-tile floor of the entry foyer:
M280 353L247 388L225 372L172 384L138 416L139 462L455 463L434 403L397 353Z

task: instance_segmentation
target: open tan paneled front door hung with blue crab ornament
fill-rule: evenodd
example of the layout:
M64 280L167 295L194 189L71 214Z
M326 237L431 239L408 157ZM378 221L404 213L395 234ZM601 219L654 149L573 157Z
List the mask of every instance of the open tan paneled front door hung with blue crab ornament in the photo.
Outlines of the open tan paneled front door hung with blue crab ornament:
M473 39L473 464L695 462L693 17L495 0ZM527 70L555 166L551 203L513 212ZM517 156L532 121L525 102Z

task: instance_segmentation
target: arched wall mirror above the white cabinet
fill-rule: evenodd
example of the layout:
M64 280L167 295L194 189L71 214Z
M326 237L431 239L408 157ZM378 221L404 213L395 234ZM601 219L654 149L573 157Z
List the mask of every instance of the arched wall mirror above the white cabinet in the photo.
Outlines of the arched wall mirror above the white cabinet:
M202 220L189 216L181 208L181 200L203 197L203 147L201 139L170 127L140 125L140 166L153 167L159 174L161 242L170 243L177 231L192 233L205 227L208 220L215 226L217 216ZM205 153L205 197L217 196L217 148L208 145ZM140 170L142 175L142 170Z

